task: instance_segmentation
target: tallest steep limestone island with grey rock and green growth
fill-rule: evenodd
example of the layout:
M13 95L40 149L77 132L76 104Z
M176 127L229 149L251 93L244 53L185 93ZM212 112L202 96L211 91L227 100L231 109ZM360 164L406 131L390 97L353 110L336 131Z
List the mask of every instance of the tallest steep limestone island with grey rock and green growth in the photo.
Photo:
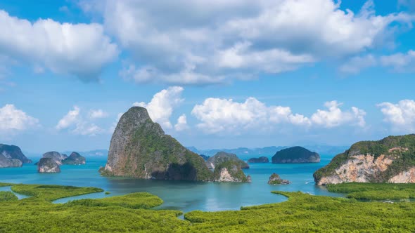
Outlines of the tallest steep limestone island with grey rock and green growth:
M100 171L142 179L212 180L203 158L165 135L143 107L132 107L121 116Z

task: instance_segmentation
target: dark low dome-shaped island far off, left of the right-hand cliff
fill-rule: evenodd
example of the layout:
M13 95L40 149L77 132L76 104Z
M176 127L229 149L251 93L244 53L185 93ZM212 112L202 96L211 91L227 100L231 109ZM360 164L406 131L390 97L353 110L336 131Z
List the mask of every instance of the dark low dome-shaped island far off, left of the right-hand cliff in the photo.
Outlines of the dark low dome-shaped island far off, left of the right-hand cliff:
M281 149L272 157L273 164L318 163L319 161L319 154L316 152L310 152L304 147Z

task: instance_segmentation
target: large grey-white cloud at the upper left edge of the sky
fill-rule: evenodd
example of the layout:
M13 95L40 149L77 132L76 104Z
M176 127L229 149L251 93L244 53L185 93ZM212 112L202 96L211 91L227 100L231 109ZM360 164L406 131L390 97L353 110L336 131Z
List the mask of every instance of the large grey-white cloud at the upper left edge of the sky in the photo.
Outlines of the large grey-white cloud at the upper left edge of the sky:
M0 10L0 54L58 74L96 81L104 65L118 55L118 48L102 25L72 24L39 19L34 22Z

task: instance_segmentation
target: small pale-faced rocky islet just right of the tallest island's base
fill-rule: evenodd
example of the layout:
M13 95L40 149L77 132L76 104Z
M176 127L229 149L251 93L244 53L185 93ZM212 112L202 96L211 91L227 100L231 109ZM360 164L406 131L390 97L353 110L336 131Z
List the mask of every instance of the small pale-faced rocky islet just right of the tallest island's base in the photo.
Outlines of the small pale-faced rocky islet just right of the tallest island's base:
M213 172L215 182L251 182L250 176L245 176L241 164L235 160L224 161L215 167Z

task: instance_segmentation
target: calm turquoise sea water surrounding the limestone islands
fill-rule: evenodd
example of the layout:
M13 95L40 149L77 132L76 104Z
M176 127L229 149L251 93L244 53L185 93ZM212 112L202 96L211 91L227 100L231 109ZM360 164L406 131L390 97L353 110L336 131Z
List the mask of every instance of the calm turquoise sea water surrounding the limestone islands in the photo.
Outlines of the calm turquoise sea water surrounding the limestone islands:
M158 208L184 211L223 211L238 210L241 206L253 206L285 201L286 197L272 194L271 191L307 192L316 195L342 197L341 194L327 192L324 187L314 185L312 174L325 166L333 155L322 155L318 164L250 164L245 169L251 175L251 183L184 182L166 180L136 180L131 178L106 178L98 173L98 168L106 164L106 158L87 158L82 166L60 166L61 173L37 173L37 166L25 164L21 168L1 168L0 182L25 184L50 184L101 187L103 192L79 197L60 199L64 203L72 199L100 198L131 192L150 192L163 199ZM34 159L34 161L37 161ZM278 173L281 178L290 180L290 185L268 185L269 175ZM3 187L1 190L10 189Z

